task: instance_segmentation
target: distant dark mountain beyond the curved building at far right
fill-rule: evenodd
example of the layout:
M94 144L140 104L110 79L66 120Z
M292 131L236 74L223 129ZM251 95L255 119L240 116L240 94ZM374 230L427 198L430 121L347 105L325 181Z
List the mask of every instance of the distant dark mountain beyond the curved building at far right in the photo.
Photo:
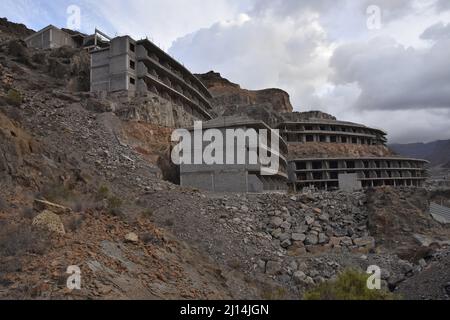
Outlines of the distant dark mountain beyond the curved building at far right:
M405 157L426 159L433 167L450 168L450 140L430 143L392 144L394 152Z

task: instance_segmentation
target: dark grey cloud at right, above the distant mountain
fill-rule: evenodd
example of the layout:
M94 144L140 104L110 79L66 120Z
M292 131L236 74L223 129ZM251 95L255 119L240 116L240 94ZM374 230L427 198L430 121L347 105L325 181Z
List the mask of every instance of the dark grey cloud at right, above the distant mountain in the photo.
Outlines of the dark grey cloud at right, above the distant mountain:
M332 81L356 83L355 107L367 110L450 108L450 41L428 49L405 48L393 39L340 46L331 58Z

